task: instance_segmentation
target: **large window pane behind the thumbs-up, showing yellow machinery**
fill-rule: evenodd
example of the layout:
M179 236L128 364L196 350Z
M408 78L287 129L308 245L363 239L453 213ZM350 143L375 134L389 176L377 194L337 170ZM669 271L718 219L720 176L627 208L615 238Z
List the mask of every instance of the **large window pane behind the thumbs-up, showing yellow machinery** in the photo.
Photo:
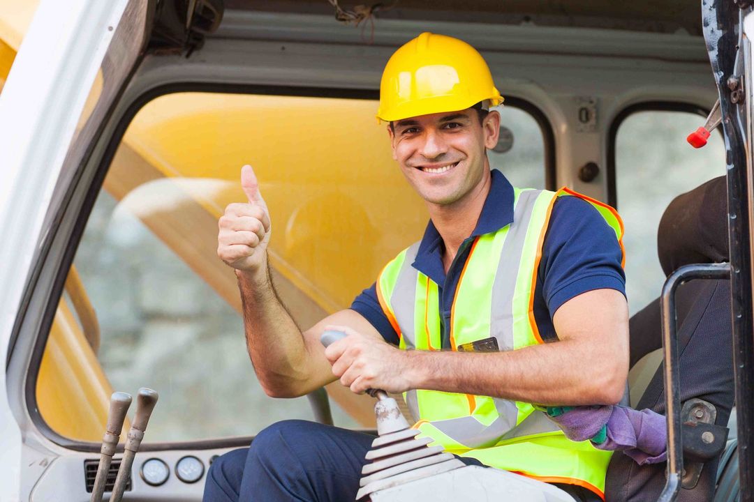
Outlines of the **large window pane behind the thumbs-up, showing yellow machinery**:
M252 164L271 212L275 283L291 315L305 329L347 308L421 236L428 218L394 165L376 107L370 100L213 93L146 105L84 230L38 395L154 388L161 397L150 442L245 436L285 418L311 419L306 398L267 397L256 380L236 278L216 256L217 219L228 203L246 200L240 168ZM535 122L514 112L506 109L524 138L518 124ZM520 141L520 153L499 155L509 156L506 164L529 159L544 180L544 153L536 160L532 151L543 144L536 132ZM75 361L69 352L79 354ZM66 364L78 364L69 372L78 376L54 379ZM373 421L372 398L331 387L336 424ZM101 431L61 429L61 413L60 406L42 410L61 434L100 440Z

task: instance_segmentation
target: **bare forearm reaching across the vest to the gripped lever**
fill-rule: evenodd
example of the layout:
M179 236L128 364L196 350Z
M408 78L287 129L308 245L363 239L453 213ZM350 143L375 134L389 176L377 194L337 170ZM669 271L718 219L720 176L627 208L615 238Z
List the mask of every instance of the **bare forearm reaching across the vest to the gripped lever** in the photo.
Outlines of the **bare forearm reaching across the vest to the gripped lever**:
M573 340L497 353L412 351L412 388L552 405L621 399L628 361Z

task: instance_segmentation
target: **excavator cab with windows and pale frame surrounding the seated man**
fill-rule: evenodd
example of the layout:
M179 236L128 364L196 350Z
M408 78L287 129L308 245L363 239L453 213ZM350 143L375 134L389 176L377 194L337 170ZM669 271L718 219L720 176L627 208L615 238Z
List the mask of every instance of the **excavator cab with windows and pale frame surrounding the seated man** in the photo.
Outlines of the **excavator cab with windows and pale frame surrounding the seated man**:
M337 382L296 400L263 393L217 219L243 200L238 172L252 164L291 315L308 327L347 308L428 218L374 120L385 62L425 31L489 62L505 97L492 169L624 218L627 398L667 413L670 446L651 473L615 454L608 485L636 486L607 500L648 500L645 485L694 500L685 452L702 431L683 434L683 406L700 396L730 432L722 454L696 458L697 485L715 500L754 497L749 2L352 4L0 0L0 500L90 500L114 391L160 395L124 500L201 500L213 460L275 421L377 433L375 400ZM694 131L703 148L686 142ZM710 200L726 200L692 211L713 178ZM707 217L721 232L698 242L728 247L700 258L678 229ZM664 253L668 241L678 246ZM707 325L719 344L703 343ZM683 379L724 342L737 424L732 403ZM124 419L106 494L135 421ZM386 496L373 500L400 500Z

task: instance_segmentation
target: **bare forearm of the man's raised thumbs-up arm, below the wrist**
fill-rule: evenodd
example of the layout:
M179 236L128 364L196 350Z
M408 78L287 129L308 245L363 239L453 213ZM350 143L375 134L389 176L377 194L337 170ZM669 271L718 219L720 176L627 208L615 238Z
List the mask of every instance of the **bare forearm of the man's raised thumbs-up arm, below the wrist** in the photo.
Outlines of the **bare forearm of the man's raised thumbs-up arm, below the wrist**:
M308 391L309 354L301 330L277 297L267 266L237 272L249 356L267 394L292 397Z

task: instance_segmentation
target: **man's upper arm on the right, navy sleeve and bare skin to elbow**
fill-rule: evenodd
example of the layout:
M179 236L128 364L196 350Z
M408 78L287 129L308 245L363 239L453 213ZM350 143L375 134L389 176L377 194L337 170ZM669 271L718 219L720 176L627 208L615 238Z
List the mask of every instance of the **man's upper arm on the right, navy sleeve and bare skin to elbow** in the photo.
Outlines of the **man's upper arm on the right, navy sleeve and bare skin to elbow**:
M539 270L552 326L573 356L605 376L605 397L618 400L629 359L622 259L615 231L592 205L577 197L556 202Z

